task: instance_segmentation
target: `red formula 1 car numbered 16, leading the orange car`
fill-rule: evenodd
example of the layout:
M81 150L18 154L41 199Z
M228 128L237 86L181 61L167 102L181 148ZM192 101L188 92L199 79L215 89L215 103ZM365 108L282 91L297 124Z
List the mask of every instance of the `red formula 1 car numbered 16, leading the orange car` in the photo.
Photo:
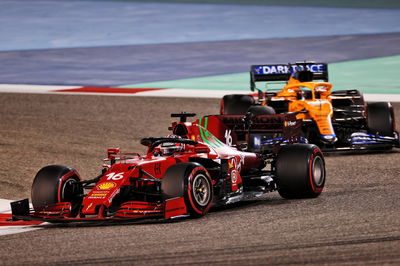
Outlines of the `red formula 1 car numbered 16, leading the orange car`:
M297 122L301 123L294 116L219 115L186 122L193 115L173 114L180 122L172 124L170 136L142 139L148 147L145 155L108 149L102 174L92 180L81 180L66 166L42 168L32 185L33 210L28 199L15 201L13 219L111 222L199 217L213 204L275 190L284 198L312 198L322 192L324 157L315 145L293 144ZM278 134L280 139L263 147L254 141L242 143L247 151L224 143L239 145L240 138L246 142L253 133Z

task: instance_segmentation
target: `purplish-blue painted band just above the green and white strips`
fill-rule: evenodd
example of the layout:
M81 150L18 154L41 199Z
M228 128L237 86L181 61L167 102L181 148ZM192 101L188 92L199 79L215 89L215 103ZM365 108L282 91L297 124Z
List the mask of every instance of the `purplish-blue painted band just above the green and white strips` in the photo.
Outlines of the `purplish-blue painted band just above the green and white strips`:
M0 52L0 83L115 86L400 54L400 33Z

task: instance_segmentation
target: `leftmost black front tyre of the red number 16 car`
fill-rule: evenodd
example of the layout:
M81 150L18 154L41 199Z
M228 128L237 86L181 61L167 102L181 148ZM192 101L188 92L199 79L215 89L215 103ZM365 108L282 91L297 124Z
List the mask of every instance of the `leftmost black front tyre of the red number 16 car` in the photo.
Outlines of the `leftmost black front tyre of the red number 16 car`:
M32 184L32 205L41 211L46 205L71 203L71 215L76 216L82 203L83 187L75 169L62 165L49 165L39 170Z

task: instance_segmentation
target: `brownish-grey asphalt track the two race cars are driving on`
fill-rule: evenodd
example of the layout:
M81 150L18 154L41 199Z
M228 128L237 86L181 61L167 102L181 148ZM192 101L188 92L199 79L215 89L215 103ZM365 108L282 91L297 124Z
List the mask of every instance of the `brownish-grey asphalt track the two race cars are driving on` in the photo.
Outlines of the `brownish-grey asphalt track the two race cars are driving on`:
M92 178L107 147L142 151L140 138L167 134L169 113L218 112L215 99L0 94L0 102L0 197L9 199L28 197L46 164ZM271 193L201 219L2 236L0 264L399 264L399 159L398 150L327 156L316 199Z

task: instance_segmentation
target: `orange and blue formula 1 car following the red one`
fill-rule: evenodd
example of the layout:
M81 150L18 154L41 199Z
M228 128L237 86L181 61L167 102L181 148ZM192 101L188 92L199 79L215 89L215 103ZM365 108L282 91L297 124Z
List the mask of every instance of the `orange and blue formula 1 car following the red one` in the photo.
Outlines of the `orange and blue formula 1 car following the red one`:
M285 85L263 92L257 82ZM258 96L225 95L221 114L295 114L303 120L303 136L324 150L399 147L392 105L365 103L358 90L332 91L325 63L253 65L250 83Z

